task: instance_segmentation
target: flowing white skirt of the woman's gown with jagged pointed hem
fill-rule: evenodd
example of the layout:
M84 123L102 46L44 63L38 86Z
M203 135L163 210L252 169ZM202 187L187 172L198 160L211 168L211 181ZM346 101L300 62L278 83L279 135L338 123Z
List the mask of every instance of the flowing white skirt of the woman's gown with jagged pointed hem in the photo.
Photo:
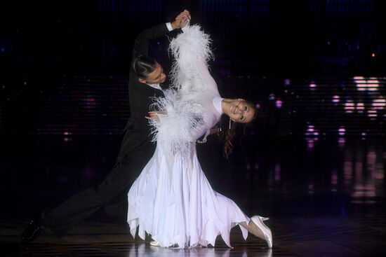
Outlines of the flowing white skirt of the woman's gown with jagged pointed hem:
M237 223L249 222L241 209L212 188L192 145L188 155L168 156L160 147L128 192L131 235L145 239L145 232L161 246L180 248L215 246L221 235L227 246ZM244 239L248 231L241 227Z

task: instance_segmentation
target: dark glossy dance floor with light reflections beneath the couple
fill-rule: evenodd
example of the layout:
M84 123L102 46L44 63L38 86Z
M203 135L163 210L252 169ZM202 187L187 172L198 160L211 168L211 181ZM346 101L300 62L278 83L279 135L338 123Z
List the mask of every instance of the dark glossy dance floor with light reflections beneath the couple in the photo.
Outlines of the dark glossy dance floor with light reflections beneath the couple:
M215 190L246 214L269 216L274 248L239 228L233 249L171 250L133 239L102 211L57 239L18 243L28 219L98 183L119 137L1 137L1 256L382 256L386 252L385 139L244 139L229 161L214 139L199 145ZM244 151L243 151L244 149Z

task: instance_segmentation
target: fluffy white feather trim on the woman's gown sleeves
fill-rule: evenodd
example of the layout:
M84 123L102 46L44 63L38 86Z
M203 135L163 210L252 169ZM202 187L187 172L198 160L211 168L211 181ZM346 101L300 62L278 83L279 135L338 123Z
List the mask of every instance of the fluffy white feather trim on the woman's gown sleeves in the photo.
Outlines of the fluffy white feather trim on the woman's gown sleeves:
M164 147L168 153L185 153L194 143L193 134L203 124L202 106L192 95L201 91L203 85L194 61L201 56L208 61L212 57L210 39L194 25L171 41L170 50L175 59L171 71L172 86L164 92L165 97L154 97L152 108L166 111L160 121L150 120L152 141Z

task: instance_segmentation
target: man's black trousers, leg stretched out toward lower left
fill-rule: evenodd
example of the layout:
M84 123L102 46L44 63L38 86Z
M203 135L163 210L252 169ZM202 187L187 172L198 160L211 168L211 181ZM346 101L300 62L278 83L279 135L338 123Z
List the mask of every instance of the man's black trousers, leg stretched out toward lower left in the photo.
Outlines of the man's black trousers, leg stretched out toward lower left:
M114 168L98 186L88 188L58 205L44 216L41 223L49 228L57 237L62 237L71 228L93 214L95 211L109 204L117 197L125 197L135 179L139 176L147 162L152 158L155 144L149 139L140 140L140 134L126 132L125 140ZM122 147L126 149L122 149ZM125 154L123 154L125 153ZM127 201L127 194L126 199Z

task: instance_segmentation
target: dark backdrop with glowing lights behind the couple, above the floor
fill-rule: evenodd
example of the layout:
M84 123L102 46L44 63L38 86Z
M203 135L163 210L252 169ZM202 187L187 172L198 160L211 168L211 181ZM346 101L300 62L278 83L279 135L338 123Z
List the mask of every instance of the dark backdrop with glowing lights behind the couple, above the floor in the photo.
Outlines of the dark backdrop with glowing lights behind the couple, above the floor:
M3 1L0 134L120 134L132 42L183 8L211 34L223 97L252 133L384 136L385 1ZM167 66L168 39L151 55Z

